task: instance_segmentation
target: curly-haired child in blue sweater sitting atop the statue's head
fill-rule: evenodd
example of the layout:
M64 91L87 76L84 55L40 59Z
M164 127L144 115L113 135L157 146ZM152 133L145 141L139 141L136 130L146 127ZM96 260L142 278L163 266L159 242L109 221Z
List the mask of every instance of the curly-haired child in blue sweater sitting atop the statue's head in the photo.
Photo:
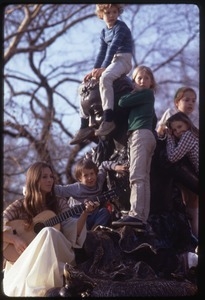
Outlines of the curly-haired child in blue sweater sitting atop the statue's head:
M103 121L95 130L89 127L89 118L80 108L81 127L70 144L78 144L95 133L106 136L115 129L113 121L113 82L132 68L132 35L127 25L118 20L123 13L122 4L97 4L96 14L106 26L100 35L100 49L93 70L84 81L94 77L99 79L99 89L103 108Z

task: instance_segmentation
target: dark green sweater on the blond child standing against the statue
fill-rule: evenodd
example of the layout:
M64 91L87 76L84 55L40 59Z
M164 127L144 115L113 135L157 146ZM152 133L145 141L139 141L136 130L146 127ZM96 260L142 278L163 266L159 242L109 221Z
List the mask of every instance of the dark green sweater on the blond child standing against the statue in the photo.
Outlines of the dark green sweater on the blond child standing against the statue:
M128 131L149 129L153 131L155 120L154 93L151 89L143 89L122 96L118 105L129 108Z

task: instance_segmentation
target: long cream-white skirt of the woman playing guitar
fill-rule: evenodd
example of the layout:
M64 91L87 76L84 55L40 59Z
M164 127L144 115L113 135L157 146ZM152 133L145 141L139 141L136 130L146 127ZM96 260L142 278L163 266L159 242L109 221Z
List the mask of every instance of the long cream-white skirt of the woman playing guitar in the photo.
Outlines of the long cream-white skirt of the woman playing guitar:
M41 297L52 287L63 285L67 262L75 265L73 247L81 247L86 237L83 230L76 241L76 222L68 222L70 239L53 227L42 229L14 264L6 263L3 290L11 297ZM80 241L79 241L80 240Z

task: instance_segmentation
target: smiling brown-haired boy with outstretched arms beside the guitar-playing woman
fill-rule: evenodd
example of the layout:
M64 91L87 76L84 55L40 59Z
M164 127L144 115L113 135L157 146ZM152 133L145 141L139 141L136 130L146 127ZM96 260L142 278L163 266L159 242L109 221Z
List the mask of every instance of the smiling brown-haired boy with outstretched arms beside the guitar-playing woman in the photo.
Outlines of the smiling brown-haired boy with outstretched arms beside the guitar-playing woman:
M74 171L77 182L65 186L55 185L55 193L57 196L69 197L68 204L70 207L84 203L86 199L95 200L97 196L102 196L107 171L109 170L123 173L128 168L126 164L118 165L112 161L104 161L98 168L91 159L80 159ZM107 195L109 200L109 192ZM112 193L110 193L110 197L112 197ZM98 225L109 226L111 214L106 205L99 206L97 201L93 201L93 206L95 210L87 217L87 229L94 229Z

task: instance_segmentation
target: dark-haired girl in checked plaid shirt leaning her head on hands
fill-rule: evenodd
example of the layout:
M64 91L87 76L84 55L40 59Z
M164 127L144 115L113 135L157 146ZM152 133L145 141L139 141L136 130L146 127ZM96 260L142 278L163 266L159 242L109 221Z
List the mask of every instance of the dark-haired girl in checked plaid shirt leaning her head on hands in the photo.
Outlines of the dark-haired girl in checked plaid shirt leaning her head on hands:
M178 112L166 122L167 126L167 156L171 162L176 162L187 156L197 174L199 174L199 130L190 118ZM186 211L190 219L192 233L198 238L198 195L179 185Z

